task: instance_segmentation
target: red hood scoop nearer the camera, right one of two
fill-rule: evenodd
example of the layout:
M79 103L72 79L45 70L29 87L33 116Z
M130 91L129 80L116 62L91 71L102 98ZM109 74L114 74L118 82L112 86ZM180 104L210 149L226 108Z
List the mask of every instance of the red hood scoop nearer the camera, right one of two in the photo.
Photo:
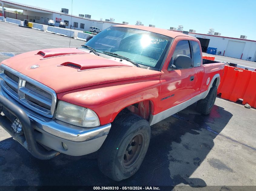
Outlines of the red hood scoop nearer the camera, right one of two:
M99 68L116 68L116 67L132 67L131 65L125 65L119 62L113 62L113 60L83 60L79 63L76 62L64 62L58 66L68 66L78 69L77 71L92 70Z

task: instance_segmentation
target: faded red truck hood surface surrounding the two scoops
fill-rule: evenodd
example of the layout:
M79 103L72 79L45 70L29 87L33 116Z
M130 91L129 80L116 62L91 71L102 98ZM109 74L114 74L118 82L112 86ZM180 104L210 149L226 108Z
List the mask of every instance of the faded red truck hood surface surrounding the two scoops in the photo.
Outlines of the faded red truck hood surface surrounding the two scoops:
M44 49L2 62L52 88L57 94L93 85L160 76L161 72L123 64L76 48ZM31 66L39 65L37 68Z

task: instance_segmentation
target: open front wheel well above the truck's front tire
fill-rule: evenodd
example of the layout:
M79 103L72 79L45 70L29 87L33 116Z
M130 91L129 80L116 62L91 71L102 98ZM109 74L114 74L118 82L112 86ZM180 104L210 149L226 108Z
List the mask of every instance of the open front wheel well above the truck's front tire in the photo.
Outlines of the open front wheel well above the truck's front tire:
M118 116L123 115L125 113L134 113L146 119L147 121L149 121L151 116L151 109L152 109L151 101L144 100L144 101L140 101L138 103L134 103L132 105L125 107L123 110L121 110L118 113Z

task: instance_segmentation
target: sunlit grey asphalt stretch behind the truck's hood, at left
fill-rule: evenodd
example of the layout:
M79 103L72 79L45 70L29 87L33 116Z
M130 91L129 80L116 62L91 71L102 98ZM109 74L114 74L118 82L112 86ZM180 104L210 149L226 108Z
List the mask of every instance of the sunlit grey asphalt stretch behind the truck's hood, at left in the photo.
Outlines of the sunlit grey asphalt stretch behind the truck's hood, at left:
M0 22L0 62L14 55L48 48L80 47L85 42Z

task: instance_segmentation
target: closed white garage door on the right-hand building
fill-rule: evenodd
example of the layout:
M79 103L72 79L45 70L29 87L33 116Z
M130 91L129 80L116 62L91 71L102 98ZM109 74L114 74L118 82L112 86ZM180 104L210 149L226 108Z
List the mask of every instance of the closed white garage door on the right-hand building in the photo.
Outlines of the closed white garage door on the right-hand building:
M225 51L224 56L232 57L232 58L241 58L241 55L244 51L245 43L229 40L228 47Z

